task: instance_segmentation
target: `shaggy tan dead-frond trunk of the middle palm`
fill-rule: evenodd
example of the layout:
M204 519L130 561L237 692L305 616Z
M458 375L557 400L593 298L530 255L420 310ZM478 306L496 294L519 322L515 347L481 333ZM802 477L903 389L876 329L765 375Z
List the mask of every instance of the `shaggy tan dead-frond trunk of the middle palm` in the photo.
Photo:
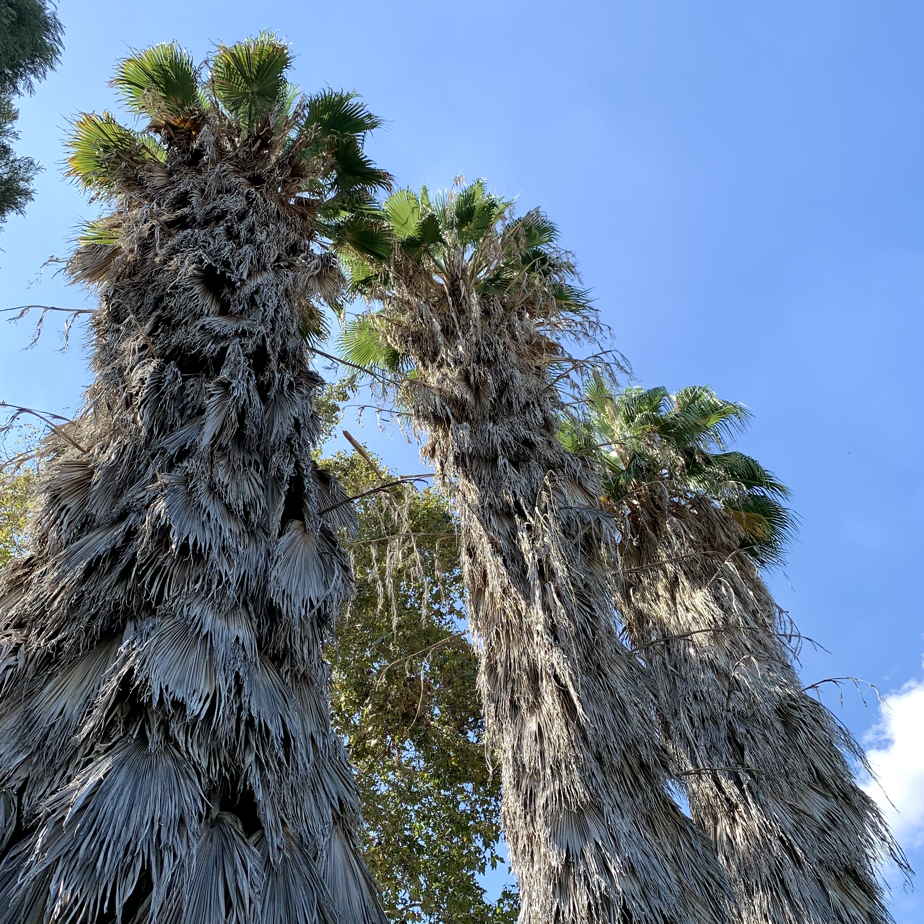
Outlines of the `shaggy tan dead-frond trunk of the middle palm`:
M615 628L598 486L555 438L558 355L527 310L462 274L390 339L456 501L468 621L522 924L725 919L711 845L665 788L638 663Z

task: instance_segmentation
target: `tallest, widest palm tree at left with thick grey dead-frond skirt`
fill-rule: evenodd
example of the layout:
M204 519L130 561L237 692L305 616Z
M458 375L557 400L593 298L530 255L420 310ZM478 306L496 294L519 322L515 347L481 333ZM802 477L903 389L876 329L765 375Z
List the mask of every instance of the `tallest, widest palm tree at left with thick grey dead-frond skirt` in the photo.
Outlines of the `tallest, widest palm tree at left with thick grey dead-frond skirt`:
M74 124L94 380L2 574L0 921L383 921L329 720L349 508L303 335L388 177L377 120L290 63L268 34L202 67L157 45L113 81L144 128Z

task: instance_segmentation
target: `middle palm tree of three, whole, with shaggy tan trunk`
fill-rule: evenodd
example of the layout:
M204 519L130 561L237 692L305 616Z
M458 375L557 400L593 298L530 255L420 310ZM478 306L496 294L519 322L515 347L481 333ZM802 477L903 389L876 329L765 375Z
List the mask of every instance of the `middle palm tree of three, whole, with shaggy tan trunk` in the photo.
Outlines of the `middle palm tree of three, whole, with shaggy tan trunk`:
M520 921L722 921L721 870L668 795L616 633L599 483L556 438L562 342L592 322L574 264L541 213L515 218L481 182L401 190L383 218L382 259L371 233L344 251L381 306L346 326L346 355L395 383L457 507Z

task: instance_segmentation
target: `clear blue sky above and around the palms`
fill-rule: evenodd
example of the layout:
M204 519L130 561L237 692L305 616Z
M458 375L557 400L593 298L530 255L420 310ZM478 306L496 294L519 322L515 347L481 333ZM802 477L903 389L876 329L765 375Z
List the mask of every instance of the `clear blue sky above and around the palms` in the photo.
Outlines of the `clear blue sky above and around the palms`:
M355 88L388 121L371 150L400 183L485 176L541 205L639 381L710 383L752 409L740 445L802 519L772 585L828 650L807 646L803 675L896 693L891 711L825 701L874 735L924 869L924 6L62 0L61 17L64 61L21 105L19 150L46 171L0 235L3 306L82 303L54 266L36 279L94 214L62 178L61 139L69 116L114 105L116 57L279 30L304 88ZM23 352L29 338L0 332L0 398L76 408L79 348L58 353L50 330ZM924 919L922 894L898 884L898 924Z

